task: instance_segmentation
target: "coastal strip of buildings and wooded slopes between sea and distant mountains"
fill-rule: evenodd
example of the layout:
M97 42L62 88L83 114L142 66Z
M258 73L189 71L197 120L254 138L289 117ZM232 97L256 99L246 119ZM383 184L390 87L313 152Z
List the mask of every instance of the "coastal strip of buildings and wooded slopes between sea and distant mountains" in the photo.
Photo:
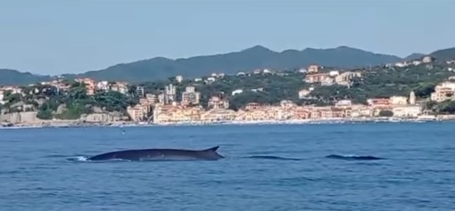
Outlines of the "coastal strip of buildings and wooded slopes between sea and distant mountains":
M409 84L408 80L410 81ZM142 84L56 77L0 87L2 126L454 118L455 60L252 69Z

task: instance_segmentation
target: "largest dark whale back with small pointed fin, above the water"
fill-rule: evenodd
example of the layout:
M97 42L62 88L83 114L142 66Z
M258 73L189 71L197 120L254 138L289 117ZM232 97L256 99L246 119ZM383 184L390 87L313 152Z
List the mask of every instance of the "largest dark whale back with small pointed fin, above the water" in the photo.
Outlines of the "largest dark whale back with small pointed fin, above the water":
M219 146L211 147L205 150L181 150L181 149L139 149L139 150L117 150L111 151L93 157L87 160L218 160L224 158L217 150Z

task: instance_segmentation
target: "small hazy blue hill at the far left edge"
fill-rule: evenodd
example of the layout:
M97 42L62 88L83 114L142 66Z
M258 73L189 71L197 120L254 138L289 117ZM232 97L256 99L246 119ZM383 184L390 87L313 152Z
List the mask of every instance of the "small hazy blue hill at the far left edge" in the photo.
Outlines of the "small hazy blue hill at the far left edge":
M14 69L0 69L0 85L29 85L49 79L49 76L38 76Z

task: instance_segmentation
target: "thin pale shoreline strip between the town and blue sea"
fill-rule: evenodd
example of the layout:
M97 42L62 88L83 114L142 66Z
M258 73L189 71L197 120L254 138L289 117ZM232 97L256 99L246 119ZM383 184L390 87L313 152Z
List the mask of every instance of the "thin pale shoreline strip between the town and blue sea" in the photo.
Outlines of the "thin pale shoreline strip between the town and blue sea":
M352 123L426 123L455 121L454 118L325 118L325 119L297 119L297 120L256 120L256 121L194 121L194 122L79 122L74 120L53 120L34 123L0 125L0 129L19 128L65 128L65 127L137 127L137 126L264 126L264 125L319 125L319 124L352 124Z

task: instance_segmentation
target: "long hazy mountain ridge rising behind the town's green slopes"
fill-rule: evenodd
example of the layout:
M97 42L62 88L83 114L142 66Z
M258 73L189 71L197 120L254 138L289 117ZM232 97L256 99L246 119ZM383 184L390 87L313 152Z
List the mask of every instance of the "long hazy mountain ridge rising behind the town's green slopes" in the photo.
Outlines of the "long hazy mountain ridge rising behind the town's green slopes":
M119 64L98 71L89 71L78 75L78 77L143 82L176 75L202 77L213 72L236 74L238 71L250 71L252 69L295 69L314 63L348 68L385 64L400 60L401 58L397 56L370 53L346 46L332 49L286 50L277 53L257 45L240 52L196 56L188 59L170 60L158 57Z

